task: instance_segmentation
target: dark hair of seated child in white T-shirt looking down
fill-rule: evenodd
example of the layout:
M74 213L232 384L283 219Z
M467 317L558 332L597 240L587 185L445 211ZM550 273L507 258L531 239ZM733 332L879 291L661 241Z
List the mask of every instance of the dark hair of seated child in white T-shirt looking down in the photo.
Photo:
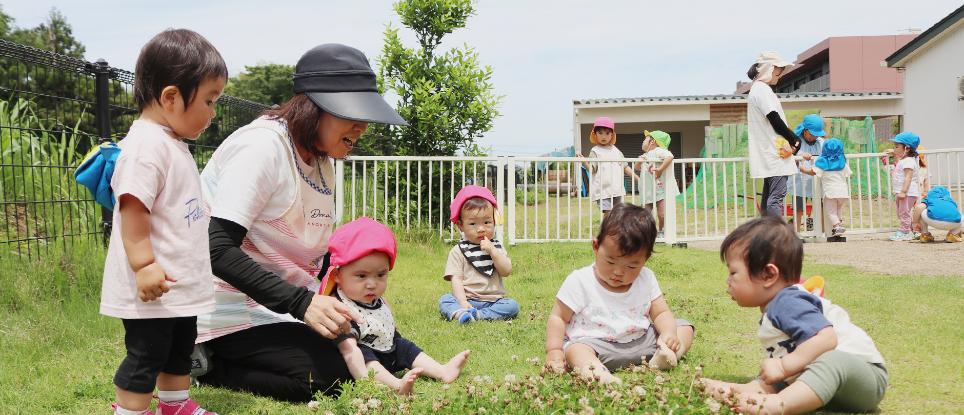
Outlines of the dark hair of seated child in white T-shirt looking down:
M642 206L617 203L603 219L596 242L603 245L606 238L611 238L612 242L619 246L620 256L632 255L642 250L649 258L653 255L653 246L656 245L656 219Z

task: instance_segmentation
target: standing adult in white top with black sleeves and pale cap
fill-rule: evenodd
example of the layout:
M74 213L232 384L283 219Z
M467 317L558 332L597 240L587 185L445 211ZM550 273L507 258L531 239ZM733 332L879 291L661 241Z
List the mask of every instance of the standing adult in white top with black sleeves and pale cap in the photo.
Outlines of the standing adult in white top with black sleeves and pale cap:
M790 156L799 149L800 139L787 126L780 99L770 87L776 85L781 74L792 65L784 62L780 54L766 51L757 57L757 63L746 73L753 80L746 109L750 177L763 178L762 215L784 216L787 176L797 171ZM785 139L786 143L780 139Z

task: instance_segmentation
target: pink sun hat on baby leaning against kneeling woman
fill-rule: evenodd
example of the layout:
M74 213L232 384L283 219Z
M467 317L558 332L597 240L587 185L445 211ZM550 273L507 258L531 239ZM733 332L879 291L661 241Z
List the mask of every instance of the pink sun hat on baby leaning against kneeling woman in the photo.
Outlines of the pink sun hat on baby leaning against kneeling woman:
M388 270L391 270L395 267L398 247L395 246L395 235L388 226L362 217L338 226L328 239L328 251L332 253L331 266L321 280L318 294L322 296L332 294L335 289L335 281L329 278L335 267L347 265L369 253L382 251L388 253Z

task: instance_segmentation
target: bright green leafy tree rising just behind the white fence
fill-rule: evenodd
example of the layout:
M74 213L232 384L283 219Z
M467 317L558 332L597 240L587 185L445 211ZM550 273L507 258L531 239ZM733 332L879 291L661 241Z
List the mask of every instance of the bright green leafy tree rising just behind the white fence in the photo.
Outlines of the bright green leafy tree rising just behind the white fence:
M362 143L366 153L452 156L492 128L498 117L489 80L468 45L437 53L442 38L466 27L475 0L408 0L393 5L402 24L415 31L419 48L406 48L389 24L379 64L379 91L398 96L398 114L411 127L372 124Z

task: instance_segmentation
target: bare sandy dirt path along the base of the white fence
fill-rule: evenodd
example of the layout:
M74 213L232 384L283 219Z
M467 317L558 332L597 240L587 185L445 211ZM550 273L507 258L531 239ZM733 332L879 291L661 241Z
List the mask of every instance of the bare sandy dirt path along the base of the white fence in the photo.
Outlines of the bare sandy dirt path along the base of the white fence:
M865 272L894 275L964 275L964 243L944 242L944 234L934 233L937 241L929 244L891 242L890 234L873 233L847 236L845 243L804 244L806 258L822 264L849 265ZM690 242L689 247L719 251L720 241ZM906 258L894 261L894 258Z

